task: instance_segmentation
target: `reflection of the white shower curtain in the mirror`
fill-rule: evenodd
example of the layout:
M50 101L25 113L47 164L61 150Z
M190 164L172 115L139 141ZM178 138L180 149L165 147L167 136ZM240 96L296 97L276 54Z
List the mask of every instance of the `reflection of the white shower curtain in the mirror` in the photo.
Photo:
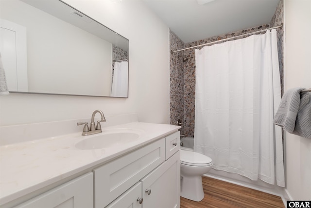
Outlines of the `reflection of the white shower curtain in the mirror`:
M111 96L113 97L127 97L128 86L128 62L115 62Z

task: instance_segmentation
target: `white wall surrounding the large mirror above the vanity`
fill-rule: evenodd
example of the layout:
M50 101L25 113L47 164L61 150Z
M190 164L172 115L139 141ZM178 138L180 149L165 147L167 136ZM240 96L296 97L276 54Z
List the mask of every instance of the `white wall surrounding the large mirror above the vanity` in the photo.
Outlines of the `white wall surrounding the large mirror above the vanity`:
M96 109L169 123L168 26L141 0L65 1L129 39L129 98L10 94L0 97L0 126L90 118Z

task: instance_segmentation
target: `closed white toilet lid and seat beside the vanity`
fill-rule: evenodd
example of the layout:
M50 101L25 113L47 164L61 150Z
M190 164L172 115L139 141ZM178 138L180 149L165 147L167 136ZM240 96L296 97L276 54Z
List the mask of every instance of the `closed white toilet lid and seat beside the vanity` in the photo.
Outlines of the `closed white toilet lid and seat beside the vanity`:
M210 166L212 159L198 152L180 150L180 163L190 166Z

